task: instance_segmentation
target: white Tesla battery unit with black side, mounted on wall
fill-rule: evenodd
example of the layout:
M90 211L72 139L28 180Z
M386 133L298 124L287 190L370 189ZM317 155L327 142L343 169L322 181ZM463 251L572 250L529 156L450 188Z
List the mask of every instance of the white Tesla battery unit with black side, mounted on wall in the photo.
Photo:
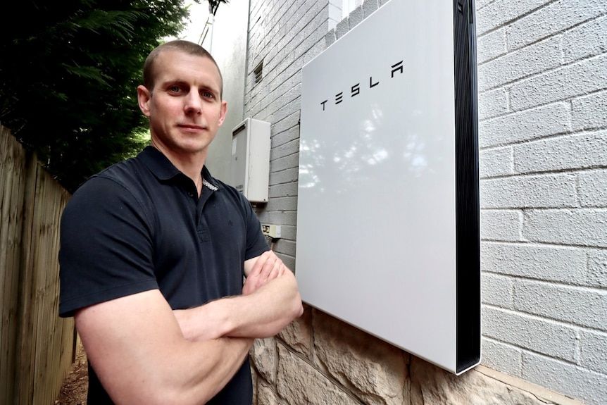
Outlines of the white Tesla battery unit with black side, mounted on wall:
M303 66L303 300L463 373L480 362L472 1L391 0Z

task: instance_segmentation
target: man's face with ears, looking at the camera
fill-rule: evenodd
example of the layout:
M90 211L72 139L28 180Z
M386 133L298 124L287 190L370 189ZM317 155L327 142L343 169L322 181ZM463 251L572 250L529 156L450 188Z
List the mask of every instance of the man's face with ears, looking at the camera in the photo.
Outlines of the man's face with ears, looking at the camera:
M154 75L151 92L137 87L152 144L165 154L206 156L226 113L217 66L210 58L168 50L154 61Z

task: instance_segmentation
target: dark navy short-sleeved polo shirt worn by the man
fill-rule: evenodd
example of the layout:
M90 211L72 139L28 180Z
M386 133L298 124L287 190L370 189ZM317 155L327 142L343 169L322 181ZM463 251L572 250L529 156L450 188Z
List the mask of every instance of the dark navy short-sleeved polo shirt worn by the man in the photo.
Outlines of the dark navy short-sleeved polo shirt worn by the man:
M91 177L61 218L60 316L149 289L172 309L242 294L244 261L268 250L253 208L206 168L200 198L194 182L160 151ZM94 374L94 373L93 373ZM101 390L89 376L92 390ZM249 361L208 404L251 404Z

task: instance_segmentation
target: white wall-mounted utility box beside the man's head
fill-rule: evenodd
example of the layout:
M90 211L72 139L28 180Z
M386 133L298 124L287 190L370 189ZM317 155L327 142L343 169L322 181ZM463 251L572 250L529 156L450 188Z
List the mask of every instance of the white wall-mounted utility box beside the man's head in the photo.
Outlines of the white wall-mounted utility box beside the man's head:
M249 117L232 130L230 185L251 203L268 202L270 123Z

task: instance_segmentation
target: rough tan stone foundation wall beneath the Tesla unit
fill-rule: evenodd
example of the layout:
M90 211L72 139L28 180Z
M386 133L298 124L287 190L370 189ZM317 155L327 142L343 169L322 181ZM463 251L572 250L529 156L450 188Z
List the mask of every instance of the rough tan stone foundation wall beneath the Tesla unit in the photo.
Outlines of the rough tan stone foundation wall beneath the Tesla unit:
M582 405L484 366L453 375L310 306L251 360L253 405Z

